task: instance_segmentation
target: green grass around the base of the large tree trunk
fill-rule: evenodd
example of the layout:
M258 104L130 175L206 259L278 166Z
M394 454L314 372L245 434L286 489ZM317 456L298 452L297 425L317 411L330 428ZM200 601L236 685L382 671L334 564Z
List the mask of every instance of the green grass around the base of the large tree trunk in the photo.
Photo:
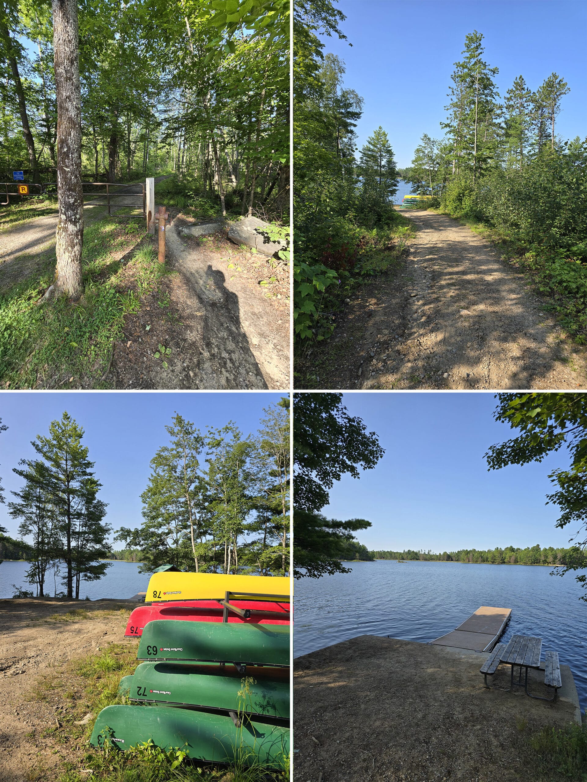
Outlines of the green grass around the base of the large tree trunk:
M122 262L133 248L135 253ZM0 296L0 386L105 388L103 375L124 317L140 310L165 268L135 221L108 218L84 231L84 294L45 301L55 260Z

